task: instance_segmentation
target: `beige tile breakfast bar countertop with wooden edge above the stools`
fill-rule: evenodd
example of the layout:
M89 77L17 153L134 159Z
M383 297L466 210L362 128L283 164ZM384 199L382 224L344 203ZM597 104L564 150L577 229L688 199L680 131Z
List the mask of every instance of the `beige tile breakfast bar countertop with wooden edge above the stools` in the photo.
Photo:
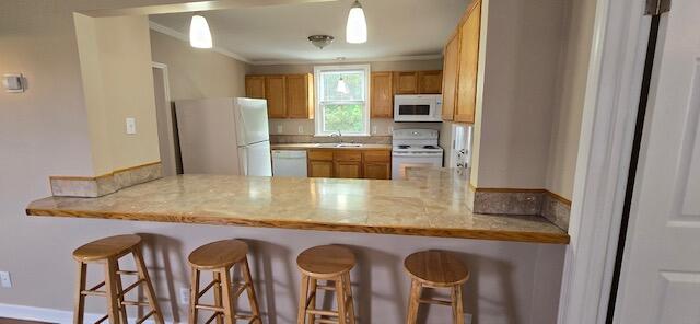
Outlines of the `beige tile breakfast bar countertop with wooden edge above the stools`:
M100 198L48 197L28 216L247 225L538 243L569 235L534 216L474 215L451 169L407 181L178 175Z

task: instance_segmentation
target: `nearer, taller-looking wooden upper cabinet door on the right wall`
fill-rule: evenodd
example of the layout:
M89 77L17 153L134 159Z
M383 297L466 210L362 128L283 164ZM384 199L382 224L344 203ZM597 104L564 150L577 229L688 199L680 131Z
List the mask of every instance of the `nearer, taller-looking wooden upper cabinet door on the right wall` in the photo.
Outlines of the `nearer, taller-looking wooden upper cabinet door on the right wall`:
M474 123L477 99L477 66L479 62L479 28L481 2L476 2L460 26L459 69L455 121Z

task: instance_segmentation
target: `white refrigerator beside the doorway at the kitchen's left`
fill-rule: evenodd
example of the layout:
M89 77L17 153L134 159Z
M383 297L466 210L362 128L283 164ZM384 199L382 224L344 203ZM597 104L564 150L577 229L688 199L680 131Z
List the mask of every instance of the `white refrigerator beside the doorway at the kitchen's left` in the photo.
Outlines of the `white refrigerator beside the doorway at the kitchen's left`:
M271 176L267 101L175 102L184 173Z

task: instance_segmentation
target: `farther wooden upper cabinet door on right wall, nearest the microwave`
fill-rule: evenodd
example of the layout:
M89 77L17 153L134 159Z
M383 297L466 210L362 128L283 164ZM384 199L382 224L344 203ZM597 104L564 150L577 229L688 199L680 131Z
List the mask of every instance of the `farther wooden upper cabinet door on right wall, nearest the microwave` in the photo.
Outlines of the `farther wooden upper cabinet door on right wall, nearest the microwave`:
M442 119L452 120L457 104L457 72L459 69L459 35L460 27L445 45L443 59L442 85Z

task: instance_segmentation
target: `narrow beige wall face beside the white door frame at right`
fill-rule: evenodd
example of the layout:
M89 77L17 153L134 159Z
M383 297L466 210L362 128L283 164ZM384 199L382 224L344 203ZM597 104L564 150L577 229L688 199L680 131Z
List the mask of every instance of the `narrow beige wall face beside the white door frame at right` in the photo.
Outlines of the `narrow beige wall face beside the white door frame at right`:
M560 61L556 106L552 116L546 188L567 199L573 193L579 152L581 114L586 90L588 57L593 42L595 1L568 1L565 44Z

